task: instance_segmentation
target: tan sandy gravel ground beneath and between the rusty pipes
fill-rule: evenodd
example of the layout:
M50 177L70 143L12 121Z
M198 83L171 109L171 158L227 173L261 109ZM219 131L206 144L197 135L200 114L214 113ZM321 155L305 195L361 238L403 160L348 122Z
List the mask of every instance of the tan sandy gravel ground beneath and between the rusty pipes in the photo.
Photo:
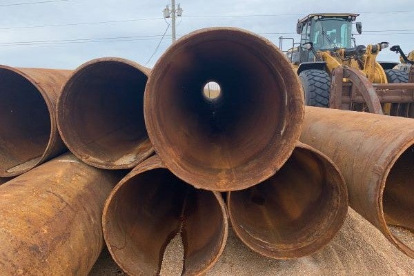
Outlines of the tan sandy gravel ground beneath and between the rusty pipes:
M166 249L161 275L180 275L182 252L181 239L176 237ZM108 250L103 251L90 273L101 275L126 275L112 261ZM207 275L414 275L414 259L397 250L350 208L335 239L319 252L299 259L276 260L258 255L230 230L223 255Z

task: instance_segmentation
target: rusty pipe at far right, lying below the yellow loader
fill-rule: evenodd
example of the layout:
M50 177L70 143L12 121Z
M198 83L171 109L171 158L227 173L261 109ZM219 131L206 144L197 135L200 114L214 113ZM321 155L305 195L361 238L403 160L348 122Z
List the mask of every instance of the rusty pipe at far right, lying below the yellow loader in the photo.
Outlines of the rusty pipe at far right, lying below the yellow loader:
M306 107L301 140L342 170L350 206L414 257L399 235L414 236L414 120Z

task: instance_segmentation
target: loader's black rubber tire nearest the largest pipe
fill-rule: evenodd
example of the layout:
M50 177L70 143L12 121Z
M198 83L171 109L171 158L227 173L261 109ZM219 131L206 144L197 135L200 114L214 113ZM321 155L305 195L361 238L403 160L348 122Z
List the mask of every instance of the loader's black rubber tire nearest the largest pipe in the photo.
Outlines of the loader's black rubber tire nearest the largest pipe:
M319 69L308 69L300 72L299 79L305 93L306 106L329 107L329 90L331 76L328 72Z

